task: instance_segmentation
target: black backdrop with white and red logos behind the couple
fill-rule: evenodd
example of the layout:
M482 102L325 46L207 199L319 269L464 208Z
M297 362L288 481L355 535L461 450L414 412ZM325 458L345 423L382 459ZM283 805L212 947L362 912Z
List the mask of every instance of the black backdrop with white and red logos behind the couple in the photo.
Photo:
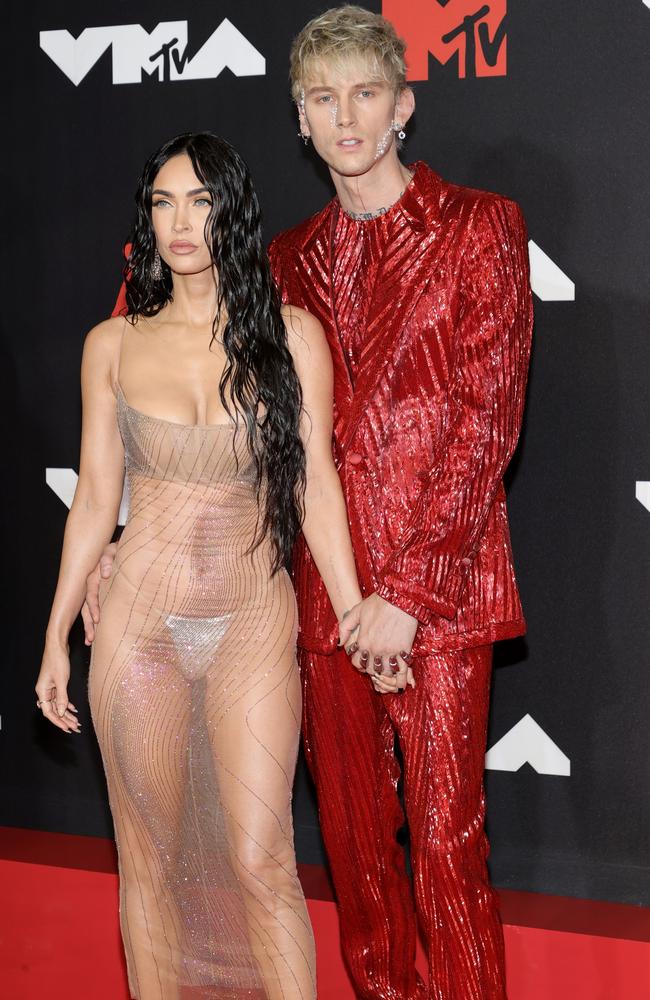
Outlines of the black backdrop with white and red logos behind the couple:
M0 823L110 834L78 634L72 689L84 735L48 728L36 717L32 689L66 514L45 470L77 468L82 340L112 307L141 165L171 135L210 128L251 165L269 238L317 210L330 189L296 134L287 56L292 36L324 6L34 0L2 7L8 586ZM478 26L472 35L474 73L464 36L442 56L440 36L479 3L400 0L385 10L401 11L419 65L426 69L427 47L439 56L420 72L428 79L414 83L407 158L516 198L531 239L550 258L534 268L544 300L536 298L526 423L508 477L529 633L497 652L489 741L496 769L487 772L493 874L500 885L650 904L650 510L635 496L650 507L650 489L637 487L650 480L650 9L643 0L511 2L501 29L507 40L491 67L486 43L505 2L487 6L487 36ZM226 68L212 79L142 73L139 83L113 82L126 72L135 37L116 26L152 32L185 21L193 56L224 18L264 57L264 75ZM67 29L77 38L107 25L110 38L101 37L113 48L78 85L39 47L42 31ZM173 29L156 37L179 37L178 53L184 40ZM58 36L45 36L45 45L64 51ZM149 46L145 62L157 48ZM244 48L227 40L231 60ZM79 53L64 63L70 71L79 70ZM217 58L213 52L212 65ZM551 261L567 276L556 300L543 291ZM568 279L575 300L566 298ZM303 771L296 832L300 859L320 860Z

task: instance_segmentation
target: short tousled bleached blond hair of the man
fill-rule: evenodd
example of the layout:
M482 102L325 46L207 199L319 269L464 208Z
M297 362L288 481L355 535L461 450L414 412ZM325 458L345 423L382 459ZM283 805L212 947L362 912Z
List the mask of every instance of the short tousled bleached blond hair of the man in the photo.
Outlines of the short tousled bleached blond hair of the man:
M346 4L313 18L291 46L291 96L300 103L304 81L319 62L343 69L362 59L373 77L386 80L399 94L406 87L406 42L381 14Z

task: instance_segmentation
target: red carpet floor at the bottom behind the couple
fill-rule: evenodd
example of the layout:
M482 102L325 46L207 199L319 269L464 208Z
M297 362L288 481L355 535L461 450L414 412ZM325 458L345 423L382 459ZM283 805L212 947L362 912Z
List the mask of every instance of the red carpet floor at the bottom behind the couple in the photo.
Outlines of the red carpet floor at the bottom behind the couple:
M5 827L0 859L2 1000L128 1000L112 844ZM324 873L301 877L319 1000L354 1000ZM504 892L502 913L509 1000L650 1000L648 910Z

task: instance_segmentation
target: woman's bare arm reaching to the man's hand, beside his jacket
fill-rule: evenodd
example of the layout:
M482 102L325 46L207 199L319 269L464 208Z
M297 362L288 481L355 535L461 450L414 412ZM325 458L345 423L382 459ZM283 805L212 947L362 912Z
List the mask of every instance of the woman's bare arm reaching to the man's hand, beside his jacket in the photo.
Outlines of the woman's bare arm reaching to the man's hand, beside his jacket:
M307 459L303 533L334 613L341 619L361 600L361 591L332 457L332 357L318 320L294 306L284 306L282 314L303 395L301 433Z

